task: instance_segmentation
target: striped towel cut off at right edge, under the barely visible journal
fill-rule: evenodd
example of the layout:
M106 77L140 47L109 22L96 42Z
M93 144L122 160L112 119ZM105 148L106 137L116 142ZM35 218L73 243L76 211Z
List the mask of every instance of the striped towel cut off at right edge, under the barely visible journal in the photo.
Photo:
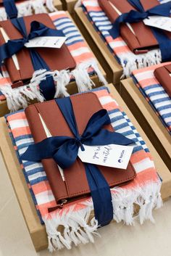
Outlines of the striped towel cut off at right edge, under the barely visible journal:
M168 62L168 64L170 63ZM164 124L164 127L171 134L171 99L154 76L154 70L163 65L167 65L167 63L134 70L133 80Z

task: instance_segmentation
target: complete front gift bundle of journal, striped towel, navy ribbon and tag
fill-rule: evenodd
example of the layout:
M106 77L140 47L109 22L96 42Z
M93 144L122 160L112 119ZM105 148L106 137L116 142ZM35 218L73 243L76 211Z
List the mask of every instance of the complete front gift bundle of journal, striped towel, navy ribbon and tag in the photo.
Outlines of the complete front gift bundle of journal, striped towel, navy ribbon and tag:
M132 225L135 205L141 223L154 221L161 181L145 142L107 88L33 104L6 119L50 251L93 242L112 220ZM121 146L119 154L112 144Z

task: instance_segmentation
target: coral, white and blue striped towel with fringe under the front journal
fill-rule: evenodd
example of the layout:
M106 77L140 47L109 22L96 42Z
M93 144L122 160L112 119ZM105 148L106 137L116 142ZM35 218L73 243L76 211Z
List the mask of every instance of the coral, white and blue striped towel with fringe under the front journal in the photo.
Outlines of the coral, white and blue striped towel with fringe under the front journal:
M134 221L134 206L138 205L137 218L139 218L140 222L143 223L144 220L154 221L152 210L162 205L160 195L161 181L157 176L149 149L128 116L109 94L108 89L101 87L94 89L93 93L99 97L102 106L108 111L114 131L122 133L122 135L135 141L130 161L135 168L137 176L131 183L122 186L122 188L114 187L111 189L114 209L113 218L117 223L123 220L125 224L132 225ZM20 160L20 156L27 147L34 143L25 112L24 110L14 112L7 115L6 119L9 126L9 134L20 161L22 172L25 174L38 215L46 226L49 250L52 252L63 247L70 249L72 244L78 245L80 243L86 244L89 241L93 242L93 235L98 234L98 223L92 214L93 203L91 197L75 203L72 202L62 209L49 213L48 208L55 207L57 203L54 200L54 195L41 162Z

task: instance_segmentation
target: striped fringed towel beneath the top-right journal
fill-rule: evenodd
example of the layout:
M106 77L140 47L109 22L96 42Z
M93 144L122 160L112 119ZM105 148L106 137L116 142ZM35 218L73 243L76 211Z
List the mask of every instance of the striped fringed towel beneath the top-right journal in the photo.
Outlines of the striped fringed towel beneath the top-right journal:
M162 3L163 1L160 2ZM157 65L162 62L159 49L151 50L146 54L136 55L130 51L121 37L113 39L108 32L112 28L112 23L101 7L99 7L98 0L82 0L82 7L88 20L90 20L94 29L104 41L104 44L108 46L117 62L122 66L123 77L129 77L131 72L138 68Z

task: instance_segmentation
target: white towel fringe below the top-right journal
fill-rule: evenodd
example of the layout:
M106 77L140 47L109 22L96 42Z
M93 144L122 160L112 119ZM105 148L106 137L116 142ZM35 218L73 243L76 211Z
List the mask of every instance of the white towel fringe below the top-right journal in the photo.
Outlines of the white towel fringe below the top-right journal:
M123 68L122 78L130 77L133 70L151 65L157 65L162 62L162 55L159 49L148 51L146 54L129 54L120 55L120 62Z

